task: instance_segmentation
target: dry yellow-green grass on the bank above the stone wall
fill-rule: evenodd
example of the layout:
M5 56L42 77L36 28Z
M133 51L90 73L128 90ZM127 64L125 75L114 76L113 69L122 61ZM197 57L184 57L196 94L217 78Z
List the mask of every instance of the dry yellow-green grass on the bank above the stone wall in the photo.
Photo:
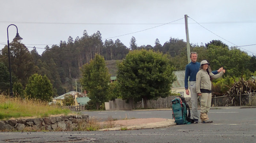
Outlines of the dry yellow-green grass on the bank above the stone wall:
M48 105L38 99L10 98L0 95L0 120L11 118L43 118L50 115L71 114L68 109L61 109L57 105Z

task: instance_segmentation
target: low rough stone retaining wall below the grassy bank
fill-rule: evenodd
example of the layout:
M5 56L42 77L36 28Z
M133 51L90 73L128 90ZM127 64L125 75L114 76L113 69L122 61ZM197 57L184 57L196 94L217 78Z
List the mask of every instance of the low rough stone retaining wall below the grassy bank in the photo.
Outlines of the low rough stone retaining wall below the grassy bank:
M78 123L86 123L89 115L69 115L35 119L16 119L0 121L0 131L26 131L31 128L34 131L73 131Z

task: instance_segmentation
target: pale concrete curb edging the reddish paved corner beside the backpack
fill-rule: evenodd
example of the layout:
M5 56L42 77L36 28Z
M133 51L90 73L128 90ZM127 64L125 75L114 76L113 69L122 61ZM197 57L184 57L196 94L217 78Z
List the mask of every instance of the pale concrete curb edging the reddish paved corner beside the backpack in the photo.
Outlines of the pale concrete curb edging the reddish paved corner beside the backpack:
M161 128L161 127L169 127L169 126L175 126L176 123L174 123L175 120L173 119L167 119L162 122L156 122L156 123L147 123L147 124L141 124L136 126L121 126L123 128L127 128L127 130L139 130L139 129L148 129L148 128ZM115 127L115 128L103 128L99 131L119 131L121 130L121 127Z

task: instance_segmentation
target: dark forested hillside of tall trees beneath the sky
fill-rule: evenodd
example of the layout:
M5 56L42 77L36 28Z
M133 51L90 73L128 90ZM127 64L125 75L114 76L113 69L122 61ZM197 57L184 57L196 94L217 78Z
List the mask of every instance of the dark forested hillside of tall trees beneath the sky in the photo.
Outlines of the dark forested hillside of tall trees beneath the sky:
M30 51L22 41L12 41L10 60L13 91L16 91L15 94L25 94L30 76L37 73L49 79L53 96L76 90L82 92L86 89L80 84L81 68L94 59L96 54L104 57L109 74L116 76L116 64L130 51L138 49L162 52L175 71L185 70L188 64L186 42L173 37L163 45L158 39L155 40L155 45L137 45L136 38L132 36L130 46L126 47L119 39L102 41L99 31L88 35L84 30L82 37L73 39L69 36L67 41L60 41L59 45L47 45L41 55L36 47ZM213 70L220 67L226 69L225 77L251 77L256 71L255 55L248 55L239 47L228 47L220 40L213 39L200 45L190 44L190 51L198 53L199 62L207 59ZM8 47L5 45L0 51L0 92L7 94L10 90L8 67Z

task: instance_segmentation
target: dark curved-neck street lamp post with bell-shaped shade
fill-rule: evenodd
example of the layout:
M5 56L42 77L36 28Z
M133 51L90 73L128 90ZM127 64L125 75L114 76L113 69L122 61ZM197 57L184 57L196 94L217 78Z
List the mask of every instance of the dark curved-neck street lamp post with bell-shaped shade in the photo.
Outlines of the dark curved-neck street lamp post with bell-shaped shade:
M13 97L13 92L12 92L12 74L11 74L11 60L10 60L10 44L9 44L9 35L8 35L8 28L11 26L11 25L14 25L14 24L10 24L8 27L7 27L7 44L8 44L8 60L9 60L9 75L10 75L10 96ZM17 29L17 33L16 33L16 36L14 37L13 40L22 40L22 37L19 36L19 33L18 33L18 28L16 25L14 25Z

